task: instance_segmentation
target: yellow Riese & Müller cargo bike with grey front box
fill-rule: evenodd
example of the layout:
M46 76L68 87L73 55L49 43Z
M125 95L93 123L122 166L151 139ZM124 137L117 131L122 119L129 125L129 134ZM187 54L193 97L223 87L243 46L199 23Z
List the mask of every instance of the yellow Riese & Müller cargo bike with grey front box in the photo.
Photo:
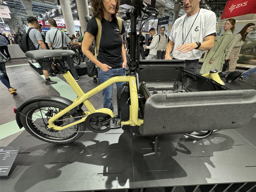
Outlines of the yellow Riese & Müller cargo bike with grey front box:
M256 113L256 90L231 90L222 84L217 70L201 76L185 70L184 60L136 60L136 38L140 35L136 32L136 20L158 11L148 8L143 0L132 4L124 18L131 19L129 75L113 77L84 93L60 59L56 59L60 74L78 97L71 101L40 95L27 100L14 110L20 128L45 142L65 144L79 139L86 128L105 133L130 125L134 136L155 137L154 152L144 154L149 156L160 154L160 135L182 133L200 139L214 130L239 128L251 120ZM74 54L71 50L36 50L26 56L40 60L48 55ZM108 108L95 109L89 99L116 82L125 82L117 91L118 115ZM87 111L82 110L83 105Z

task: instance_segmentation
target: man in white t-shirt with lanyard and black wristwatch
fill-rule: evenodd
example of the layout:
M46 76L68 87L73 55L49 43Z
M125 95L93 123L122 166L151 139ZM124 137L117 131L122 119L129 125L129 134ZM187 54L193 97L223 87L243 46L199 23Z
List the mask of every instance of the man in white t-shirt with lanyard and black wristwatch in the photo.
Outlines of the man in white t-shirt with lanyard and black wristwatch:
M177 19L173 26L170 41L167 44L165 59L182 59L186 69L196 72L198 60L205 50L214 45L216 36L216 15L206 9L200 9L201 0L183 0L186 15Z

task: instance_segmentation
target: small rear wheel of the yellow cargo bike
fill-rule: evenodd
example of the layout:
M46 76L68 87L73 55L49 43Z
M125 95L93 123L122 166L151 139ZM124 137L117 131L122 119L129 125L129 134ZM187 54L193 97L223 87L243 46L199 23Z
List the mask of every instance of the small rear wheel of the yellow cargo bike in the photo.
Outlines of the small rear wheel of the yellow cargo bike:
M46 130L48 120L66 107L68 106L56 101L32 102L20 111L20 113L23 114L20 116L20 120L24 128L39 140L55 144L71 143L84 134L86 128L84 122L70 126L61 131L53 129ZM73 123L79 119L76 118L77 116L79 115L76 113L71 116L61 116L54 121L54 124L64 126Z

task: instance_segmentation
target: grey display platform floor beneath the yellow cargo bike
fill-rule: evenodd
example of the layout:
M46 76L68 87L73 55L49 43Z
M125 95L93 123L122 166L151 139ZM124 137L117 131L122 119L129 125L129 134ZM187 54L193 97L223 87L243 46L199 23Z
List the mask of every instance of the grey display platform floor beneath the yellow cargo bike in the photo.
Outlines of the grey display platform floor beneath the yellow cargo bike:
M9 146L22 146L1 191L255 192L256 118L239 129L205 139L182 134L133 137L129 126L74 143L49 144L23 131Z

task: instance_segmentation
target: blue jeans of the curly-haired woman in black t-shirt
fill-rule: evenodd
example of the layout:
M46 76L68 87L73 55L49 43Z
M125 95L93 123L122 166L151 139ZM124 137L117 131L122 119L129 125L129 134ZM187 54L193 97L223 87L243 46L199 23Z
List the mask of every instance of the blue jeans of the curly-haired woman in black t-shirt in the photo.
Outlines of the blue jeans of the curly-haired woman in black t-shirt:
M108 79L115 77L115 76L125 76L125 69L124 68L118 68L118 69L108 69L108 71L102 71L100 68L98 68L98 76L100 79L100 83L104 83ZM116 89L121 88L121 86L124 84L124 82L117 82L116 83ZM113 94L113 84L109 85L107 88L103 89L103 108L109 108L112 111L114 111L114 107L112 104L112 94Z

